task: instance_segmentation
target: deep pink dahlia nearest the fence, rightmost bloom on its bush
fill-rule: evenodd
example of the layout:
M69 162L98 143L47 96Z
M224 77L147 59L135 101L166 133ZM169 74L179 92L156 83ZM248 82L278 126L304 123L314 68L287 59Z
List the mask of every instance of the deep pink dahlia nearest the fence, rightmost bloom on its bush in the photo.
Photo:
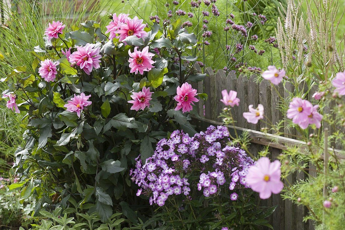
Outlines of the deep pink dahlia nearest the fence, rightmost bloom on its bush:
M199 101L199 99L195 97L197 95L197 91L187 82L185 82L181 87L177 86L176 93L177 95L174 96L175 101L177 101L175 110L180 110L182 108L183 113L192 110L192 105L194 105L193 102Z

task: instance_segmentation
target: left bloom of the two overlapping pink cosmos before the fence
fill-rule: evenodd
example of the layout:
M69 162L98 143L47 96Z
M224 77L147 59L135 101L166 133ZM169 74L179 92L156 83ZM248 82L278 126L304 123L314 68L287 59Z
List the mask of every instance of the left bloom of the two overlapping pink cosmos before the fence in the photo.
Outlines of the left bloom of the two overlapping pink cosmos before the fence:
M289 104L287 110L287 118L292 119L292 122L299 125L302 129L308 127L308 116L312 114L313 105L307 100L301 98L294 98Z

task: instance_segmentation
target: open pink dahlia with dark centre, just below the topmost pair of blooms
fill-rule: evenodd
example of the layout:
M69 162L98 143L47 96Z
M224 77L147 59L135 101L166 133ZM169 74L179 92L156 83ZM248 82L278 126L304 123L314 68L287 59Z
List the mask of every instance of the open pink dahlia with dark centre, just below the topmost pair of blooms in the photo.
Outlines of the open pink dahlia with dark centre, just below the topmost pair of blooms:
M152 57L155 54L149 53L149 47L146 46L142 51L138 51L138 47L134 47L134 52L131 53L128 50L130 58L128 59L130 73L137 74L138 71L140 74L144 74L144 71L150 71L154 66L152 65L155 61L152 61Z

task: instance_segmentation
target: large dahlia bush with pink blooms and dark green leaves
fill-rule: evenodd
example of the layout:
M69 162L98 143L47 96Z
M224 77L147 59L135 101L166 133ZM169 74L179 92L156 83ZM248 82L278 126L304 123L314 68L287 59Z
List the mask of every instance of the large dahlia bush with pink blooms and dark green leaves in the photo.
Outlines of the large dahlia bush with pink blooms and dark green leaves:
M149 28L128 16L114 14L107 31L96 21L49 23L28 52L32 65L1 80L7 107L26 113L12 188L20 187L21 199L36 198L33 215L77 202L103 222L119 210L136 223L133 206L146 202L135 197L129 168L139 155L151 157L169 130L196 133L189 113L207 98L191 86L205 77L186 54L196 36L178 21Z

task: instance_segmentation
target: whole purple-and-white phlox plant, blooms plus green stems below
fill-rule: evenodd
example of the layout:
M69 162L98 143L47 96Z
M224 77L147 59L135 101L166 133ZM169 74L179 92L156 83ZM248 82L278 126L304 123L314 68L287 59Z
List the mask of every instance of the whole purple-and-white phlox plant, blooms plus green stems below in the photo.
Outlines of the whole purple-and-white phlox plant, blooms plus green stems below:
M161 206L158 216L165 226L269 226L263 219L274 209L264 212L256 207L247 189L253 159L243 149L227 145L229 140L224 126L210 126L194 136L172 132L170 138L158 141L152 157L136 158L130 175L140 186L137 196Z

